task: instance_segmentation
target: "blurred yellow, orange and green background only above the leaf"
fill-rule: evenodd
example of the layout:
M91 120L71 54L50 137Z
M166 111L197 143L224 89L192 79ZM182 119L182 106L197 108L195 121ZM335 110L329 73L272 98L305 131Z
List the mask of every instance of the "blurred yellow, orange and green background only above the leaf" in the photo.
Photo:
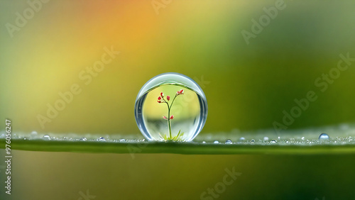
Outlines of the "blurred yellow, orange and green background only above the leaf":
M251 19L274 4L172 1L156 11L150 1L43 3L20 30L1 29L1 116L23 132L137 133L139 89L157 74L180 72L202 84L207 96L203 133L273 128L294 99L319 91L315 79L337 66L339 54L351 57L354 44L348 1L328 2L317 13L315 3L307 10L285 1L247 45L241 31L251 31ZM28 8L25 1L4 3L1 24L16 26L16 12L23 16ZM80 72L88 74L104 48L120 53L84 84ZM290 128L353 122L354 73L349 68L327 92L317 92L318 101ZM42 128L38 114L46 116L47 104L72 84L82 92Z

